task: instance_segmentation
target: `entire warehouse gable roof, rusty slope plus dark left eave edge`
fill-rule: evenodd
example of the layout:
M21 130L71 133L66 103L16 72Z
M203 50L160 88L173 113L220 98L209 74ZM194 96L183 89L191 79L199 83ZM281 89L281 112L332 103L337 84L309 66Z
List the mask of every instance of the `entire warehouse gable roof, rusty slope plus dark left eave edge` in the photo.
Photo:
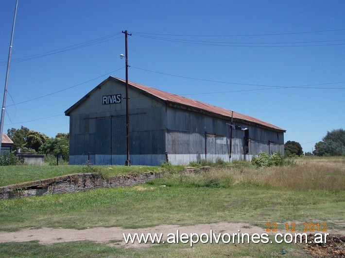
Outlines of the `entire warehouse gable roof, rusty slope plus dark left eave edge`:
M106 83L107 81L117 81L120 82L121 84L125 83L125 80L120 79L120 78L116 78L113 76L109 76L106 80L104 80L102 83L100 83L97 87L95 87L93 90L91 90L88 94L86 94L86 96L84 96L83 98L81 98L77 103L75 103L73 106L71 106L68 110L65 111L66 115L69 115L69 113L75 109L76 107L78 107L79 105L81 105L84 100L86 98L88 98L94 91L96 91L97 89L101 88L101 86ZM225 116L227 118L231 119L231 115L232 115L232 111L231 110L227 110L224 108L220 108L217 106L213 106L210 104L207 104L205 102L201 102L198 100L193 100L187 97L182 97L179 95L175 95L172 93L168 93L165 91L161 91L161 90L157 90L155 88L149 87L149 86L145 86L142 84L138 84L135 82L131 82L128 81L128 86L134 89L138 89L139 91L145 93L146 95L149 96L154 96L155 98L158 98L166 103L172 104L172 105L178 105L178 106L184 106L186 108L191 108L194 111L199 111L199 112L206 112L209 113L210 115L221 115L221 116ZM254 123L257 124L259 126L263 126L263 127L267 127L270 129L275 129L278 131L282 131L285 132L285 129L282 129L280 127L277 127L275 125L272 125L270 123L267 123L265 121L262 121L260 119L257 119L255 117L252 116L248 116L242 113L237 113L237 112L233 112L233 118L235 120L242 120L244 122L250 122L250 123Z

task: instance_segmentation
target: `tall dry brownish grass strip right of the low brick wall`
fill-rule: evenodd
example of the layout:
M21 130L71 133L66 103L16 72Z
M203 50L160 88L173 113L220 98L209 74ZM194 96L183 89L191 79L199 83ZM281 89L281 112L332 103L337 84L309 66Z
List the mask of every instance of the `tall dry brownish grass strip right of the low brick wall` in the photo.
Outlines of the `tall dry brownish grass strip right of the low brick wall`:
M150 183L150 182L149 182ZM179 187L236 186L289 190L345 190L345 159L298 159L293 165L255 168L214 167L205 172L170 174L152 184Z

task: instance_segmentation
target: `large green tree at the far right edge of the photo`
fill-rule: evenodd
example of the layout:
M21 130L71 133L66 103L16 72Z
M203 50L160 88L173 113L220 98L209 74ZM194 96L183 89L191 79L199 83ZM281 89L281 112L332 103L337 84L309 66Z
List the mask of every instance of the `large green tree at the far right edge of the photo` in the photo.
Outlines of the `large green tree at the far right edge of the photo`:
M345 130L327 131L321 142L315 144L313 154L317 156L341 156L345 154Z

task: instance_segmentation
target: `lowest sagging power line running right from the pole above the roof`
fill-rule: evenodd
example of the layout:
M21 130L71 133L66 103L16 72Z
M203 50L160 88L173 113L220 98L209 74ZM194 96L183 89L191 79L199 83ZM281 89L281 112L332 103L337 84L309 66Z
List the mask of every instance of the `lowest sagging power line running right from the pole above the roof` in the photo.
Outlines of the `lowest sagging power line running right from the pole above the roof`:
M345 90L345 88L310 87L310 86L321 86L321 85L345 83L345 81L319 83L319 84L308 84L308 85L299 85L299 86L276 86L276 85L265 85L265 84L250 84L250 83L239 83L239 82L229 82L229 81L206 80L206 79L199 79L199 78L193 78L193 77L187 77L187 76L180 76L180 75L173 75L173 74L168 74L168 73L156 72L156 71L152 71L152 70L148 70L148 69L143 69L143 68L139 68L139 67L135 67L135 66L131 66L131 67L135 68L135 69L147 71L147 72L163 74L163 75L168 75L168 76L173 76L173 77L178 77L178 78L184 78L184 79L190 79L190 80L197 80L197 81L217 82L217 83L246 85L246 86L261 86L261 87L271 87L271 88L341 89L341 90Z

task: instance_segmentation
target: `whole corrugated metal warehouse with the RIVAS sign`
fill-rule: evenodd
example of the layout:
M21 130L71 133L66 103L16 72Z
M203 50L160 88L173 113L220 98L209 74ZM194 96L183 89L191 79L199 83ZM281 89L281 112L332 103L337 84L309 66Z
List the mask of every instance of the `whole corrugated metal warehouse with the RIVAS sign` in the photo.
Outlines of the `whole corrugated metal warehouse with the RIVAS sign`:
M110 76L70 107L69 163L124 164L126 83ZM129 82L129 149L133 165L251 160L284 153L284 129L204 102ZM231 122L232 121L232 122Z

